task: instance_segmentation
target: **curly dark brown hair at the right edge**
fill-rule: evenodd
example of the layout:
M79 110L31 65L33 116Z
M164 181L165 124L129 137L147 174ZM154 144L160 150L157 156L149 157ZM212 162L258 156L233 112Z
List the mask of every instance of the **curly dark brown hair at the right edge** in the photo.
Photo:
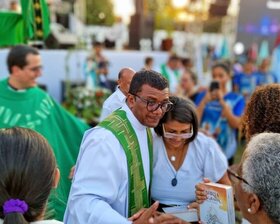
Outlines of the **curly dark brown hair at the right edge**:
M258 87L252 94L242 119L246 139L258 133L280 133L280 84Z

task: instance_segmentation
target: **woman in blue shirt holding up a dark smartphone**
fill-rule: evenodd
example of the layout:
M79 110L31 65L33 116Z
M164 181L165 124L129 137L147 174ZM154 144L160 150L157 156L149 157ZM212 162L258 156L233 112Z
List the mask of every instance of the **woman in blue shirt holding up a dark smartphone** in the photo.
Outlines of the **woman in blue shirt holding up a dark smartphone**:
M200 93L195 101L201 130L219 143L229 164L237 148L237 130L245 108L242 95L227 90L230 69L223 63L212 67L212 78L208 91Z

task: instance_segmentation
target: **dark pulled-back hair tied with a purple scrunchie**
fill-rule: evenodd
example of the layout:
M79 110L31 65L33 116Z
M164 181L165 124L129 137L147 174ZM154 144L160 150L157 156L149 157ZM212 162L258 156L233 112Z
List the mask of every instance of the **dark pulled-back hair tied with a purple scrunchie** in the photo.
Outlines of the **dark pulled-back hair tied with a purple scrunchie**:
M31 129L0 129L0 218L4 224L25 224L44 213L54 183L56 161L48 142ZM4 214L3 204L19 199L24 213Z

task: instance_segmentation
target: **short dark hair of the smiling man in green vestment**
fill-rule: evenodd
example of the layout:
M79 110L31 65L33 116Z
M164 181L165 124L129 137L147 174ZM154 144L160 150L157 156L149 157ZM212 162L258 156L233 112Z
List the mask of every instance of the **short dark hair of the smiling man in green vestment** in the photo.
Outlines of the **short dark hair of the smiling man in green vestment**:
M7 66L10 73L12 73L12 67L17 66L21 69L27 65L26 56L28 54L39 55L39 51L27 45L17 45L13 47L7 57Z

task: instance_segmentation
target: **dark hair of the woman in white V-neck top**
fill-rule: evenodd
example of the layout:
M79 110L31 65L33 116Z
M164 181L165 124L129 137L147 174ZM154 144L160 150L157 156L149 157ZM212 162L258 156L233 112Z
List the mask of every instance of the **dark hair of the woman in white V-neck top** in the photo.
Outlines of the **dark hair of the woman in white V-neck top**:
M198 132L198 120L194 104L190 100L177 96L170 96L169 100L173 103L173 108L161 118L159 124L154 128L155 132L157 135L163 136L162 124L171 120L188 123L193 127L193 136L188 139L188 142L192 142Z

